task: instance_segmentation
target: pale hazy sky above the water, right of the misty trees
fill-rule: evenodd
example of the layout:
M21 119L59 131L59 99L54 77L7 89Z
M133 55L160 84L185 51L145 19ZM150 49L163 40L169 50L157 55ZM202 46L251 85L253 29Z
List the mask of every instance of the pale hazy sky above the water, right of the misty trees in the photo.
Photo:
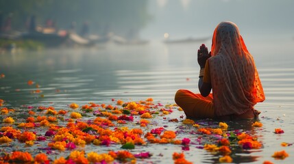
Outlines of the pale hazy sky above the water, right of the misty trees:
M294 36L293 0L150 0L153 16L143 38L173 38L212 35L216 25L230 20L241 34Z

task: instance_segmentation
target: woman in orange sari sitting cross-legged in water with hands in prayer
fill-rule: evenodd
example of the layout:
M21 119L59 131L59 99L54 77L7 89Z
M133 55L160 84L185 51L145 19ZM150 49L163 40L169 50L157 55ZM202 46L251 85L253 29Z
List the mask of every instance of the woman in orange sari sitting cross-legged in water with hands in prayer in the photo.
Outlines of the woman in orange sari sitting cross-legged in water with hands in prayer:
M178 90L175 102L187 118L217 120L257 119L257 102L265 94L238 27L221 22L212 36L211 52L202 44L198 49L200 66L198 87L201 94ZM212 90L212 94L210 93Z

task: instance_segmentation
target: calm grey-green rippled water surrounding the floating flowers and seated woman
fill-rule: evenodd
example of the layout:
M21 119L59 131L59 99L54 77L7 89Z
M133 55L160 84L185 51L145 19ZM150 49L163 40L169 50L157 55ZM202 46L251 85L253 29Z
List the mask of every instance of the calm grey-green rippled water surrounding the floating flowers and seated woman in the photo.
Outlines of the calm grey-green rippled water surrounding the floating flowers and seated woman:
M11 107L53 105L57 109L72 102L79 105L107 103L112 98L127 101L151 97L155 102L173 104L173 96L180 88L198 92L196 51L199 44L110 44L90 49L0 54L0 73L5 74L5 78L0 79L0 98ZM260 122L263 126L254 131L263 147L232 157L238 159L234 161L236 163L262 163L266 160L291 163L294 146L282 147L280 143L294 143L294 57L291 48L294 42L285 39L277 46L267 40L247 46L254 55L266 94L265 102L256 105L256 109L262 111ZM29 80L38 83L42 93L31 94L36 87L27 85ZM182 114L175 111L168 118L178 118ZM160 122L159 126L162 124L169 123ZM177 127L169 128L175 130ZM282 128L285 133L276 135L273 133L275 128ZM171 154L182 151L180 147L154 144L136 148L140 149L154 152L151 159L154 163L172 163ZM289 153L284 161L271 157L273 152L280 150ZM160 153L170 155L158 156ZM215 162L209 152L193 146L185 154L188 161L195 163Z

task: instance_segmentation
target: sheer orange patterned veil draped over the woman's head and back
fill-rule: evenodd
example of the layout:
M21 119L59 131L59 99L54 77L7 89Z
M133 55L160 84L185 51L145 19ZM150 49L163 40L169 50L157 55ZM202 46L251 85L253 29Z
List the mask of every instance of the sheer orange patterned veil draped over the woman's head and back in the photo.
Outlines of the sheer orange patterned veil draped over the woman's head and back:
M242 114L265 100L254 59L234 23L217 25L211 53L208 60L216 116Z

